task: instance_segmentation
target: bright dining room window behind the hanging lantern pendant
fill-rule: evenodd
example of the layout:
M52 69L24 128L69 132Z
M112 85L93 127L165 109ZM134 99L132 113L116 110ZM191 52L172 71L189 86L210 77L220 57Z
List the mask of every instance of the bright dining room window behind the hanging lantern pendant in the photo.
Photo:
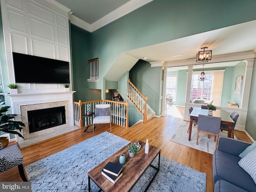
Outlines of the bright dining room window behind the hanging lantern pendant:
M193 74L191 81L191 101L198 98L205 98L206 100L211 100L212 95L212 82L213 73L206 74L207 80L199 81L198 77L200 74Z

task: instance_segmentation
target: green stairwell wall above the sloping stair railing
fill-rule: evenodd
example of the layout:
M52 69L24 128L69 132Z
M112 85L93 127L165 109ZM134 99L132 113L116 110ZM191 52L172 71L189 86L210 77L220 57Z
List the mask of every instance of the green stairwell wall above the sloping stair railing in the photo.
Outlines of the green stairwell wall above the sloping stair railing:
M130 70L130 81L148 97L148 105L161 114L160 93L161 93L161 67L151 67L150 63L144 60L138 62Z

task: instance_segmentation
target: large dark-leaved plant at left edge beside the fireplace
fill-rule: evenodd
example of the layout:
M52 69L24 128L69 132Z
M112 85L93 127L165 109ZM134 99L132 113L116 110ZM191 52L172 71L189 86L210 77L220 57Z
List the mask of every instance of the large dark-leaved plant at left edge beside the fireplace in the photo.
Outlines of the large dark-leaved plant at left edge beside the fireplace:
M13 119L14 116L17 116L16 114L3 114L4 112L8 111L8 108L10 108L10 106L0 107L0 131L17 134L18 136L23 138L23 136L16 130L18 129L21 131L22 126L25 126L25 124L20 121L10 120L10 119Z

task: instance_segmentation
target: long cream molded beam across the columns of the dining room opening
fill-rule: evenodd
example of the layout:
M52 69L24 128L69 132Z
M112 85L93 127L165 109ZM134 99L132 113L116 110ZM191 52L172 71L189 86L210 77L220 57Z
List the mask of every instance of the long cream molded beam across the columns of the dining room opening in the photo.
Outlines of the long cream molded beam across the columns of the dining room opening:
M204 62L204 64L229 62L229 61L242 61L242 60L252 59L252 58L255 58L254 52L248 51L248 52L212 56L212 60L208 62ZM164 67L177 67L177 66L198 65L198 64L202 64L202 62L197 63L196 58L193 58L193 59L187 59L187 60L165 62Z

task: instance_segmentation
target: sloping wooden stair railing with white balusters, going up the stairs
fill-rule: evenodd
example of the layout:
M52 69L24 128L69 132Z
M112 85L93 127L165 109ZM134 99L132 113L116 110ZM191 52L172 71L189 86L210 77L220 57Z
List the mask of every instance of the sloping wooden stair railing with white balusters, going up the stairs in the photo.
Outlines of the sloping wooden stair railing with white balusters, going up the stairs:
M143 122L147 121L147 96L143 95L134 84L127 79L128 81L128 89L127 89L127 97L134 104L134 106L139 110L139 112L143 116Z

